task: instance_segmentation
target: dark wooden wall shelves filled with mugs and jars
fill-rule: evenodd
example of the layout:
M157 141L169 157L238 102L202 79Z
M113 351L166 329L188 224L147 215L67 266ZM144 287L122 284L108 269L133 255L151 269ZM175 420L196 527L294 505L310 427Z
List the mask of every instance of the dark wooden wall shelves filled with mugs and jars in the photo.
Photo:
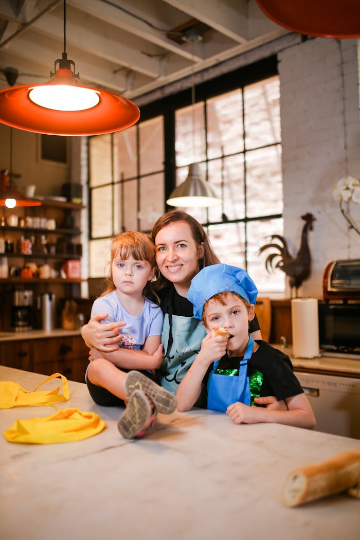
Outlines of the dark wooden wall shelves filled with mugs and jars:
M80 211L83 208L80 204L50 199L43 200L41 206L0 208L0 240L3 239L2 245L8 249L0 253L0 330L11 330L13 291L31 289L35 312L37 297L43 293L52 292L57 299L80 296L80 271L73 275L67 271L69 277L64 278L62 268L67 261L72 266L80 265ZM22 240L31 240L31 248L21 244ZM69 264L67 266L69 268ZM30 271L21 274L25 267ZM58 322L61 308L57 306ZM34 328L40 328L40 314L36 315Z

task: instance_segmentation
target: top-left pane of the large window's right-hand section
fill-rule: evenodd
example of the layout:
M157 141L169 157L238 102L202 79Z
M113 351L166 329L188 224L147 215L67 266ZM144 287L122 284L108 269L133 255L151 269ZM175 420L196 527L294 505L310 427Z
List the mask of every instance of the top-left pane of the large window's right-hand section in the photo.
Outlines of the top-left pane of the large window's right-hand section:
M176 167L197 163L204 159L205 118L204 104L201 102L175 111Z

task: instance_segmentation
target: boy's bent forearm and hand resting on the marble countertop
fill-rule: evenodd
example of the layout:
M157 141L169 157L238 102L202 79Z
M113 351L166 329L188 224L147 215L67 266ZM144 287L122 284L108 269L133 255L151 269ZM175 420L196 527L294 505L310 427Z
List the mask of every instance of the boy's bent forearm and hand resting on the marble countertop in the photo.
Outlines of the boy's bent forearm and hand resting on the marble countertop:
M315 416L305 394L297 394L286 400L288 410L254 407L243 403L233 403L227 408L226 414L235 424L256 424L270 422L295 426L298 428L314 429Z

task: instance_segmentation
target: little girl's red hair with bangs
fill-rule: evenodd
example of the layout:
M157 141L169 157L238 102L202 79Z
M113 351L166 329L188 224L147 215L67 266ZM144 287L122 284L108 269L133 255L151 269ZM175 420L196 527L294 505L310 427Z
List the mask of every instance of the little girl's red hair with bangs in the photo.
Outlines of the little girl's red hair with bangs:
M135 261L147 261L152 268L156 266L155 261L155 246L150 238L150 235L138 231L125 231L113 237L110 250L110 261L107 263L107 273L105 275L105 291L101 296L110 293L116 289L112 277L112 261L121 259L126 261L129 257L133 257ZM158 295L154 292L150 281L147 282L143 292L144 296L149 300L159 303Z

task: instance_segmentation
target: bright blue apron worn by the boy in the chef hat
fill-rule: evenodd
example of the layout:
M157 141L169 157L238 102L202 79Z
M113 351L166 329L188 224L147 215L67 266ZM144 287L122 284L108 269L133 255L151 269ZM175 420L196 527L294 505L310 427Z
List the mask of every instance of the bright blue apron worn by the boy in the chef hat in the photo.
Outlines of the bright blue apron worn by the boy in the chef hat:
M207 408L225 413L232 403L240 401L250 404L250 384L248 372L248 360L252 357L254 340L249 335L249 341L245 354L239 363L239 375L229 376L215 373L219 360L214 362L214 369L209 375L207 383Z

